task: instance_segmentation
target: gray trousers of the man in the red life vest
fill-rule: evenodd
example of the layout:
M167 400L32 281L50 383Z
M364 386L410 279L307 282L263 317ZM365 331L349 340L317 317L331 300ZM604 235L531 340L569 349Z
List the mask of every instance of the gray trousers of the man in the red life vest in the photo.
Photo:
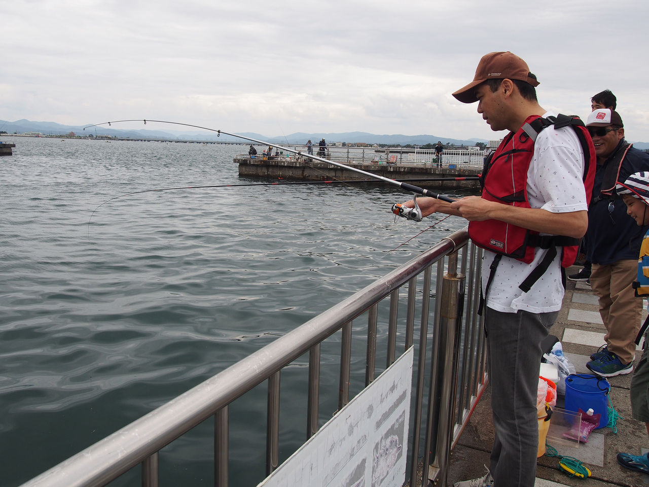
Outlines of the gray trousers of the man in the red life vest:
M496 430L489 464L494 487L534 486L541 341L558 314L485 308L487 371Z

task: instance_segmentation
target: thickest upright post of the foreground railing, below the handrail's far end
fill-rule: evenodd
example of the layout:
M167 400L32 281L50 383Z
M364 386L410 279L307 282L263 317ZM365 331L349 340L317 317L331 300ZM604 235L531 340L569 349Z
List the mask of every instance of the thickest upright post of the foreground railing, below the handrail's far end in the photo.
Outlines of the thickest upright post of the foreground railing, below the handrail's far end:
M437 409L435 458L428 479L439 486L447 484L450 448L453 440L455 399L458 385L459 342L464 309L465 277L458 273L458 253L448 256L448 272L441 292L439 342L434 351L435 377L431 374L429 407ZM436 438L435 438L436 437ZM424 471L424 473L426 473Z

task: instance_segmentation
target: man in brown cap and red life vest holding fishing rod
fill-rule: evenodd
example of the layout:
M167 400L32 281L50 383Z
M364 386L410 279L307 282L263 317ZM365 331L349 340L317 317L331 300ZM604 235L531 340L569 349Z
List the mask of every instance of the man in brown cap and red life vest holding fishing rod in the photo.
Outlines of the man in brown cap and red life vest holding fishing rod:
M477 101L493 131L509 131L485 163L482 195L454 203L417 199L424 216L444 212L468 219L469 236L485 248L482 290L495 440L487 475L459 487L535 483L541 341L561 309L563 256L573 249L574 262L574 245L588 224L583 177L588 174L592 184L592 142L581 121L539 105L538 84L518 56L483 56L474 80L453 94L462 103ZM548 245L535 246L528 235Z

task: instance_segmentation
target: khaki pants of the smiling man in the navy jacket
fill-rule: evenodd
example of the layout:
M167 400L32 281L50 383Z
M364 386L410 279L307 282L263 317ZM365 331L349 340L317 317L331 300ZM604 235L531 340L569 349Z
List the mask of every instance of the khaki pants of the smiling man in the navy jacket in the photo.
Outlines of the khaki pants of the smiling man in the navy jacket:
M604 340L622 364L635 358L635 336L641 327L643 302L635 297L631 286L637 273L637 260L593 264L591 273L591 288L599 297L600 315L606 327Z

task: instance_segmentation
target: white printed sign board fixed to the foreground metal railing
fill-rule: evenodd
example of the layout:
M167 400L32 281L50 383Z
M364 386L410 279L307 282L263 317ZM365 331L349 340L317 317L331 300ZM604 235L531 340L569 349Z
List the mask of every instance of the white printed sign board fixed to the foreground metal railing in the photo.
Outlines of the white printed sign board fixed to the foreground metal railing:
M258 487L401 487L412 361L410 347Z

